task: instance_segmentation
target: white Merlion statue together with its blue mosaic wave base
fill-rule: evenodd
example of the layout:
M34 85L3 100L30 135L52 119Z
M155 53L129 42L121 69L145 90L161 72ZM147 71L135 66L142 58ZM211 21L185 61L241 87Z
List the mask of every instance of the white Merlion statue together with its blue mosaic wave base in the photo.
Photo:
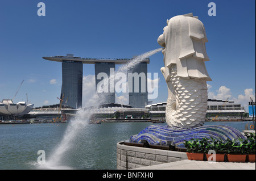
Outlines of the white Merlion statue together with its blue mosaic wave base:
M193 14L167 20L158 43L164 48L164 67L161 71L167 82L168 99L166 125L151 125L130 137L130 142L167 145L185 148L191 138L245 139L245 136L227 125L203 125L207 113L207 81L210 79L204 61L209 61L204 24Z

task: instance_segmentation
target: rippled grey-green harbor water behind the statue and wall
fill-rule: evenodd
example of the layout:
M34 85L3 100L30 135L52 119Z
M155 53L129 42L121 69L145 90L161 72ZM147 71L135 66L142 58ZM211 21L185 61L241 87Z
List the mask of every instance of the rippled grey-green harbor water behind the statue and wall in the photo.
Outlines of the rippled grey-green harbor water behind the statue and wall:
M205 125L225 124L243 131L239 122L205 122ZM86 125L72 141L61 167L42 167L38 163L39 150L47 159L59 146L69 123L5 124L0 125L0 169L116 169L116 144L128 140L153 123L101 123ZM163 125L163 124L161 124Z

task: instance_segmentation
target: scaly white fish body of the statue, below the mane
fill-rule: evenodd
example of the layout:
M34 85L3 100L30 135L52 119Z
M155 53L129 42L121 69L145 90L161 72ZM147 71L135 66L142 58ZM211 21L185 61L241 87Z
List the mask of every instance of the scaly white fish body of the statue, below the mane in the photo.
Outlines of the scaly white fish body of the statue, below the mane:
M170 70L171 79L167 84L172 86L174 95L167 99L167 124L187 129L203 125L207 113L207 82L177 76L175 64Z

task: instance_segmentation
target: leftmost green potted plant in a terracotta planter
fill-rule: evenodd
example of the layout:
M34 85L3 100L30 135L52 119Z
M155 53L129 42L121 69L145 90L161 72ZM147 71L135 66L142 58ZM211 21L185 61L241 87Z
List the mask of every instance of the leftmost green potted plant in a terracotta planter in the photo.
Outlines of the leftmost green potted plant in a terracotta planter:
M191 140L185 141L184 146L187 148L188 159L203 161L206 145L207 138L192 138Z

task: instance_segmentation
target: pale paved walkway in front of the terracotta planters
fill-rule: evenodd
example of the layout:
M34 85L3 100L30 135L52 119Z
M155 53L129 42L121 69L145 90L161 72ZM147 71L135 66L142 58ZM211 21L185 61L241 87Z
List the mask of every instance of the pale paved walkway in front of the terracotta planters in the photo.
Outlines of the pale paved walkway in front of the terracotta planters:
M140 167L133 170L255 170L255 162L207 162L183 160L159 165Z

